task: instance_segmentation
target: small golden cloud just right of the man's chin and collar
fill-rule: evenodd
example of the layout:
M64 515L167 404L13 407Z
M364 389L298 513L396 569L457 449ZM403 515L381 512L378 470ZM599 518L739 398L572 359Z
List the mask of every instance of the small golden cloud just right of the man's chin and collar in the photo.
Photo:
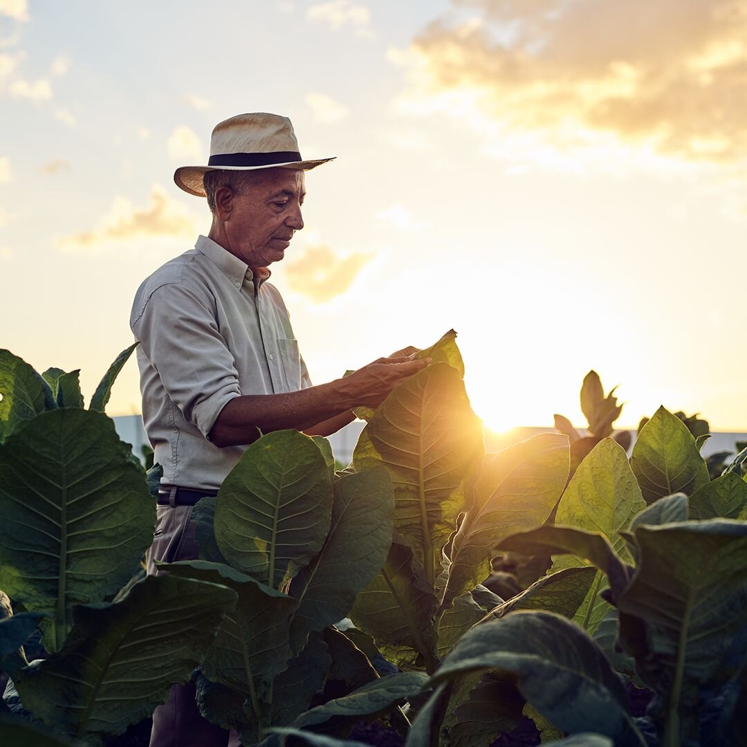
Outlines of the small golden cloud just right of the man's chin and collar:
M315 244L285 266L285 276L293 291L323 303L344 294L371 258L373 254L362 252L339 257L325 244Z

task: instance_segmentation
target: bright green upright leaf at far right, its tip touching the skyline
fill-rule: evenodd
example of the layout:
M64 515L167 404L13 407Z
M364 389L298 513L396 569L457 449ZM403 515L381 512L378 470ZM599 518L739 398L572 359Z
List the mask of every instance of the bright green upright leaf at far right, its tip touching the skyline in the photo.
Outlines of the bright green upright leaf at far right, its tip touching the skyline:
M695 438L680 418L663 407L638 434L630 467L646 503L672 493L692 495L710 480Z

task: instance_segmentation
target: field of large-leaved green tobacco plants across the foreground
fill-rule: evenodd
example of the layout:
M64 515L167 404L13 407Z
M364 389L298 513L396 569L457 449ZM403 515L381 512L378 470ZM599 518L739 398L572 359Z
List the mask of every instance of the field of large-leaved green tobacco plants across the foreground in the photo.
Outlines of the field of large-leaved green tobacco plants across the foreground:
M134 746L188 681L246 747L747 745L747 450L716 469L663 408L631 447L592 372L586 435L485 453L449 332L351 465L262 436L146 577L158 468L105 415L132 350L87 408L0 351L4 747Z

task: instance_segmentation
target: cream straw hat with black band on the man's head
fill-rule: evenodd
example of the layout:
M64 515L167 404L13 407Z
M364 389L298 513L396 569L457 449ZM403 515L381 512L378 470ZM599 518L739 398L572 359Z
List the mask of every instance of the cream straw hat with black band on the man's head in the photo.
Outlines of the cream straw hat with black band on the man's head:
M334 158L334 157L333 157ZM182 166L174 172L180 189L205 196L202 177L208 171L253 171L256 169L313 169L332 158L304 161L288 117L278 114L238 114L215 125L207 166Z

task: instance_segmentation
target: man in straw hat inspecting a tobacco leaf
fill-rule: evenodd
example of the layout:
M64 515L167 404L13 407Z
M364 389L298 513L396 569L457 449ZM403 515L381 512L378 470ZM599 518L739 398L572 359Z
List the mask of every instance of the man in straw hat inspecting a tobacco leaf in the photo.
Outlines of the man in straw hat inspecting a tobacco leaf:
M378 406L427 365L407 349L311 385L285 304L266 281L303 229L306 170L329 160L304 161L286 117L241 114L214 128L207 166L174 174L180 188L207 197L212 225L143 282L132 307L143 421L164 468L149 573L154 560L197 557L193 505L216 494L261 433L329 436L353 420L353 407ZM199 717L190 686L175 686L153 715L152 746L227 738Z

